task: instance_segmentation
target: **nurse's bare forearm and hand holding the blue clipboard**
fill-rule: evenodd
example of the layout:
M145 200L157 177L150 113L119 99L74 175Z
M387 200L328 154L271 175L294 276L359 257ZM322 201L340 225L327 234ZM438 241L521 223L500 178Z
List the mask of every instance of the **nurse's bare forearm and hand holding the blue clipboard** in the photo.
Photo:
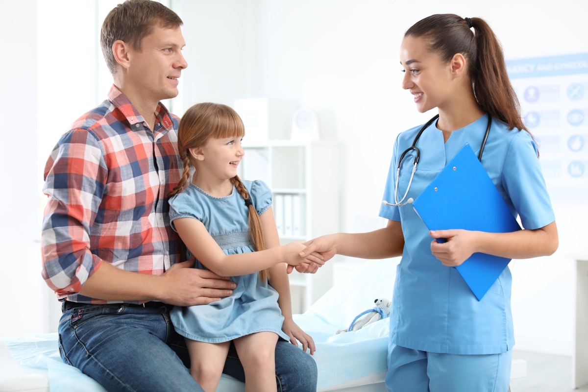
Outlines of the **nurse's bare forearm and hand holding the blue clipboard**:
M530 259L550 256L559 246L555 222L534 230L518 230L512 233L487 233L468 230L436 230L430 232L435 239L447 242L431 243L431 252L450 267L459 266L473 253L486 253L507 259Z

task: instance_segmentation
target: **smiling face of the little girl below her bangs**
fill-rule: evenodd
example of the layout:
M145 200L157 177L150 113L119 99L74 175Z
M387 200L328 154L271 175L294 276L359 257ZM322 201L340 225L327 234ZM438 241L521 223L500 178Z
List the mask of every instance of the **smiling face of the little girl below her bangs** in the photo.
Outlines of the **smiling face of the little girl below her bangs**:
M236 176L237 167L245 155L240 136L211 138L201 148L201 152L199 167L205 167L212 176L222 180Z

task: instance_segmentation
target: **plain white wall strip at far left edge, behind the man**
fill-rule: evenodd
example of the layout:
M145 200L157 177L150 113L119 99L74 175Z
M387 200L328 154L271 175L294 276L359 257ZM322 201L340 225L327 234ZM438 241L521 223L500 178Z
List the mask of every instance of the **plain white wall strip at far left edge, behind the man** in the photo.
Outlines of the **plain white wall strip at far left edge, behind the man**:
M9 44L0 61L0 108L3 138L0 143L0 294L5 303L2 330L6 334L34 330L29 314L42 311L36 301L43 287L38 248L36 0L2 4L0 35ZM6 326L6 327L5 327Z

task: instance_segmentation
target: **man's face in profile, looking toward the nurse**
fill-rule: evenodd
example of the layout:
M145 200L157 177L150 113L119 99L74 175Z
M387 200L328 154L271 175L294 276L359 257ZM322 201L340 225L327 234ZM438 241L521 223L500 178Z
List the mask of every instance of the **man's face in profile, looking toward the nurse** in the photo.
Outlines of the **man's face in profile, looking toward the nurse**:
M130 66L125 85L141 93L141 99L159 102L178 95L178 79L188 63L182 31L156 26L141 42L141 51L129 49Z

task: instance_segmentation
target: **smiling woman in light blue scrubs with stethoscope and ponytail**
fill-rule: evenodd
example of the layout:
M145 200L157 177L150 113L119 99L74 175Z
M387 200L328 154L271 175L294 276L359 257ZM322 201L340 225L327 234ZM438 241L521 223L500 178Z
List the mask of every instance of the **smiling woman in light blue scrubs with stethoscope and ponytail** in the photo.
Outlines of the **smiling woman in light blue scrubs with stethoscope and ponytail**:
M432 15L417 22L405 33L400 64L402 88L412 94L416 109L439 111L416 143L420 159L412 181L414 150L402 159L398 180L397 167L422 126L396 138L383 197L396 201L380 209L389 219L386 228L319 237L302 254L319 251L325 259L335 253L366 259L402 255L390 318L389 391L506 392L515 344L510 270L478 301L452 267L476 252L524 259L557 249L537 148L521 120L502 49L483 19ZM488 126L482 165L524 230L429 232L410 199L466 142L479 150ZM437 243L439 238L447 242Z

